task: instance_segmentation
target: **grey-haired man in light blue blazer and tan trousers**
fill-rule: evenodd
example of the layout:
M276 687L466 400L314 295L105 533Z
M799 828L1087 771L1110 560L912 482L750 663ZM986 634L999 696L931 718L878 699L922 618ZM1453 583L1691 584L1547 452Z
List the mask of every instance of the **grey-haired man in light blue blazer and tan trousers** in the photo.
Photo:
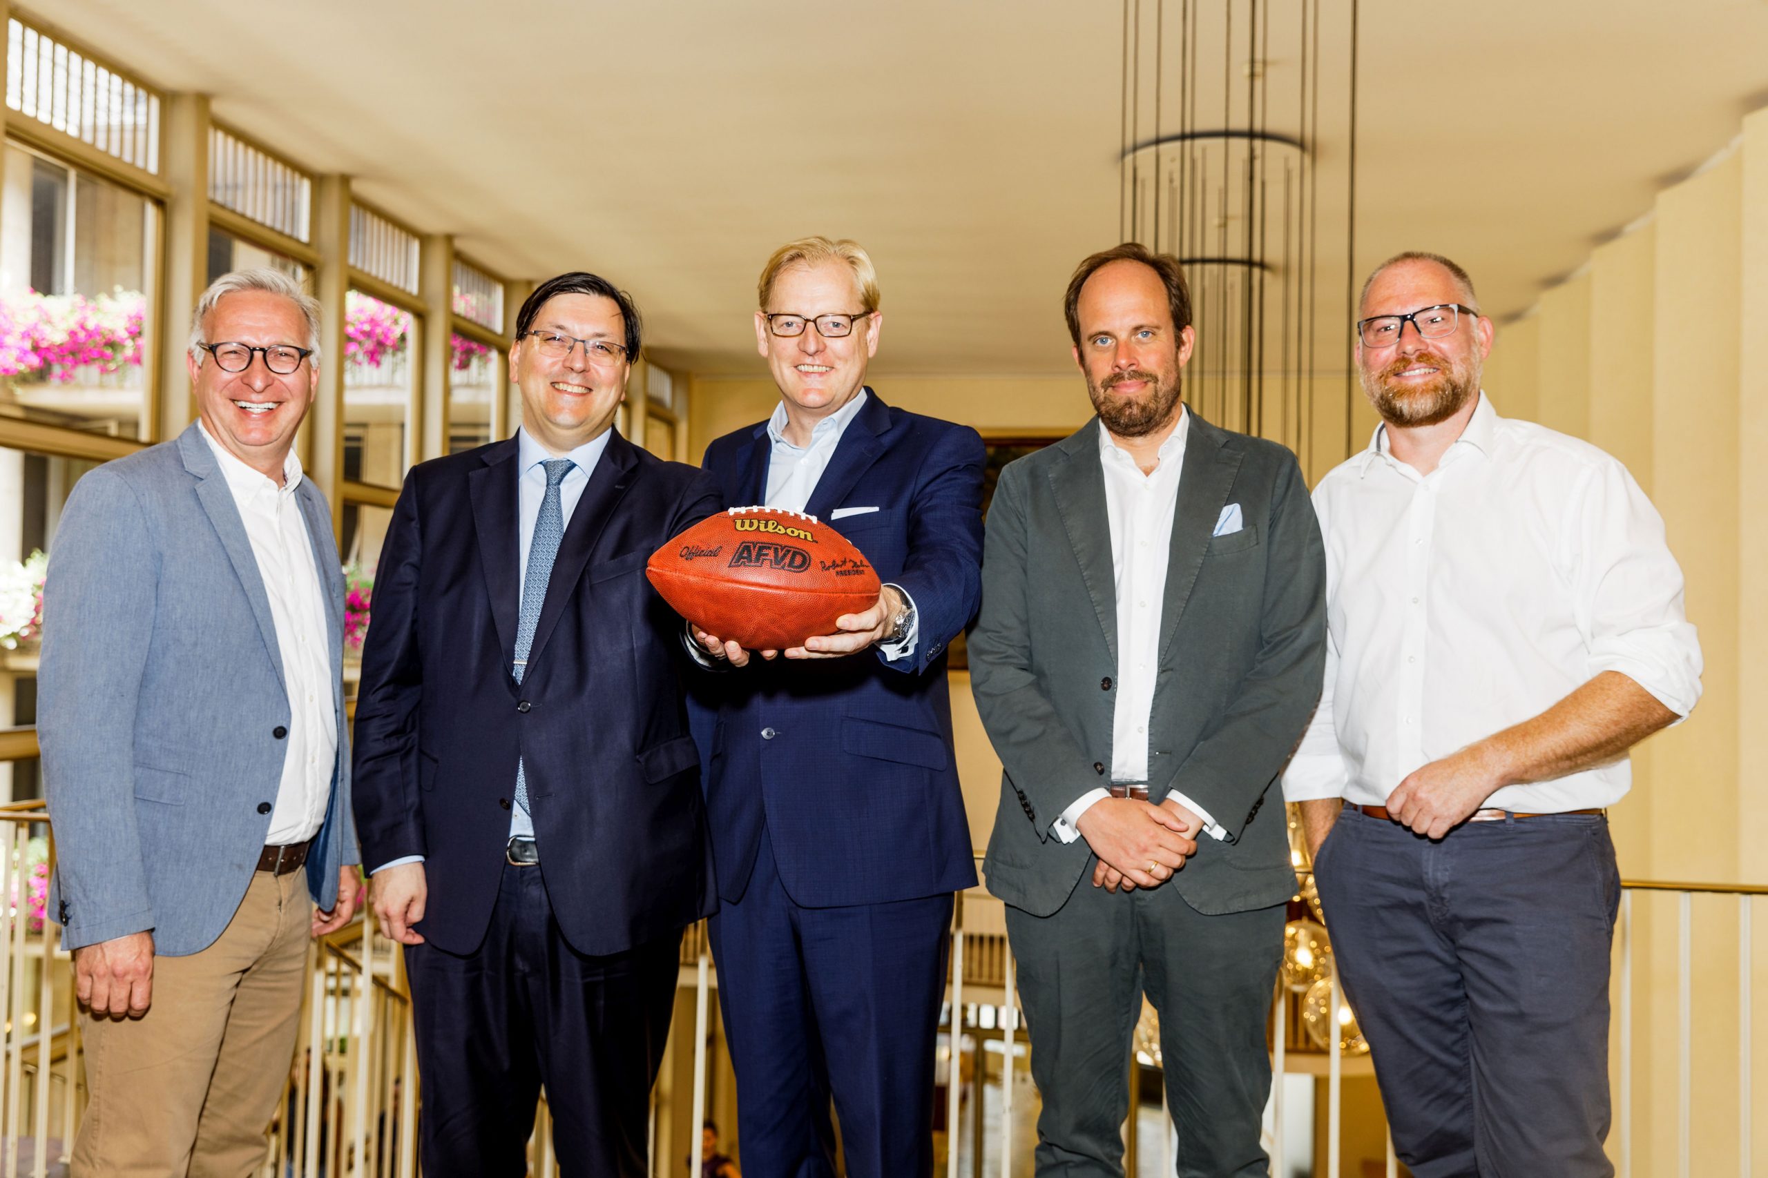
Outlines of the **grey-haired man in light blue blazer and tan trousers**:
M306 940L355 910L343 578L292 450L318 321L283 274L217 279L198 422L81 479L55 537L39 740L88 1012L76 1174L255 1173Z

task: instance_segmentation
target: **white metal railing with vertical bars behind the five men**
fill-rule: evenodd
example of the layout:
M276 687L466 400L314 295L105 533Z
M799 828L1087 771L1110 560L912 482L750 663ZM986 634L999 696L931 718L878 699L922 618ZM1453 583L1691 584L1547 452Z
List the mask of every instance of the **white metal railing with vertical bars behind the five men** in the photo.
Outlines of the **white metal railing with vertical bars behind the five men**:
M4 961L0 961L0 1012L5 1016L4 1053L0 1053L0 1178L19 1174L46 1174L67 1162L74 1134L85 1107L81 1081L80 1019L72 1007L72 977L69 955L57 948L58 929L48 913L34 901L41 895L41 876L53 865L53 839L46 837L48 814L41 804L0 805L0 895L11 897L4 934ZM37 842L32 835L37 834ZM34 853L34 848L35 853ZM42 864L39 867L37 864ZM34 881L35 880L35 881ZM1674 1137L1674 1167L1678 1174L1696 1169L1696 1152L1711 1148L1708 1137L1694 1132L1692 1111L1699 1106L1696 1090L1696 1060L1703 1060L1701 1076L1710 1074L1710 1056L1736 1051L1736 1166L1741 1178L1752 1174L1756 1146L1756 1109L1752 1102L1752 1044L1754 994L1761 984L1756 977L1754 945L1759 940L1754 922L1761 906L1756 895L1768 894L1759 887L1720 887L1699 883L1627 883L1616 927L1616 1132L1611 1148L1616 1152L1619 1178L1665 1173L1635 1157L1641 1130L1641 1109L1635 1107L1637 1088L1664 1079L1650 1069L1641 1070L1635 1049L1641 1030L1662 1031L1653 1023L1657 1008L1674 1012L1665 1023L1674 1026L1674 1099L1644 1104L1657 1137L1655 1157L1667 1152L1665 1134ZM1646 913L1641 906L1658 901L1664 911ZM1724 945L1708 945L1696 936L1697 906L1708 917L1726 917L1710 922L1727 931ZM1734 924L1722 911L1734 904ZM1641 985L1651 971L1639 968L1641 931L1662 918L1673 924L1665 929L1648 929L1658 936L1655 964L1658 973L1674 975L1674 994L1653 993ZM1703 925L1706 927L1706 925ZM1669 952L1671 945L1674 950ZM1717 1010L1711 1003L1701 1007L1704 1033L1697 1035L1694 980L1697 963L1704 955L1736 952L1738 1001L1734 1017L1724 1019L1717 1031ZM1664 959L1673 957L1673 970ZM690 929L682 943L682 985L693 991L693 1088L684 1097L691 1109L690 1127L705 1120L707 1086L711 1074L709 1026L711 994L716 987L716 970L704 934L704 925ZM949 954L949 1017L942 1028L946 1046L941 1056L944 1130L944 1173L958 1178L960 1153L967 1153L972 1174L1013 1178L1015 1173L1015 1093L1013 1076L1018 1054L1020 1012L1015 991L1015 963L1006 945L999 902L985 894L971 892L958 897L951 929ZM1701 971L1706 977L1706 971ZM1646 1001L1641 1001L1641 1000ZM1296 1167L1319 1178L1340 1178L1342 1127L1345 1118L1344 1084L1353 1074L1368 1074L1367 1056L1344 1051L1344 1037L1328 1033L1330 1049L1310 1049L1298 1033L1299 996L1278 989L1273 1003L1273 1072L1282 1076L1312 1076L1314 1084L1324 1084L1324 1157L1308 1159L1289 1153L1287 1121L1296 1114L1294 1102L1285 1100L1285 1084L1273 1084L1268 1109L1269 1152L1273 1174L1291 1174ZM1317 1008L1315 1008L1317 1010ZM1337 978L1331 982L1328 1028L1340 1028L1344 996ZM684 1021L684 1019L682 1019ZM679 1028L686 1031L686 1026ZM1734 1031L1734 1033L1733 1033ZM1001 1091L992 1116L985 1116L988 1088L988 1044L999 1042L1004 1067ZM965 1061L971 1081L965 1084ZM279 1063L271 1063L279 1067ZM1153 1065L1133 1061L1132 1081ZM316 943L309 957L308 989L301 1021L301 1038L293 1060L288 1061L288 1088L272 1123L267 1127L267 1157L263 1178L375 1176L412 1178L417 1173L417 1061L412 1031L410 1000L405 991L401 954L392 941L378 934L364 936L364 924ZM1133 1090L1132 1090L1133 1091ZM967 1118L974 1129L965 1130L965 1093L976 1102ZM1704 1093L1699 1093L1704 1097ZM1139 1099L1132 1109L1140 1107ZM1307 1134L1312 1107L1301 1111L1298 1132ZM656 1178L674 1174L670 1164L679 1141L656 1141L656 1099L652 1102L651 1173ZM1130 1153L1156 1150L1163 1162L1162 1173L1172 1171L1172 1132L1162 1102L1163 1132L1158 1141L1139 1139L1137 1118L1132 1113L1126 1127ZM539 1107L530 1143L532 1169L545 1178L555 1178L557 1159L552 1150L552 1121L545 1102ZM679 1127L677 1127L679 1129ZM679 1137L679 1132L674 1134ZM697 1134L693 1134L697 1150ZM985 1146L999 1143L994 1166L983 1169ZM741 1143L737 1143L741 1148ZM1029 1143L1020 1143L1029 1144ZM967 1150L964 1150L967 1146ZM1308 1166L1312 1169L1308 1171ZM1020 1173L1025 1173L1020 1169ZM1386 1152L1386 1173L1397 1173L1391 1143ZM1733 1173L1731 1167L1713 1167L1701 1162L1703 1178L1713 1173Z

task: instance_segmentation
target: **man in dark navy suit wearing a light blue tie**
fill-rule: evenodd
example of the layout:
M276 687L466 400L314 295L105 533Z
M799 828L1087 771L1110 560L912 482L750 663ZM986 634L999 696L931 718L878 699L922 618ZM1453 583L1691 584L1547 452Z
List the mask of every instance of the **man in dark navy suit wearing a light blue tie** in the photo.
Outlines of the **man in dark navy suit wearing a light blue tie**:
M681 618L645 558L718 509L613 429L638 313L592 274L522 306L522 429L414 468L355 714L371 902L407 947L430 1178L644 1174L681 931L716 906Z

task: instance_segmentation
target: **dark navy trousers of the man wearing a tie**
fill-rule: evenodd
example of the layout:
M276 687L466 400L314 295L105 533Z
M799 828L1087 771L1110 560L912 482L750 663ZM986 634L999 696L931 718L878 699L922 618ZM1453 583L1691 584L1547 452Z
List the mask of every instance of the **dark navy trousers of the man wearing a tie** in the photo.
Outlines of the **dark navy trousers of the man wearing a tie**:
M566 943L539 865L504 867L484 943L405 948L426 1178L520 1178L541 1086L566 1174L645 1173L651 1084L681 934L591 957Z

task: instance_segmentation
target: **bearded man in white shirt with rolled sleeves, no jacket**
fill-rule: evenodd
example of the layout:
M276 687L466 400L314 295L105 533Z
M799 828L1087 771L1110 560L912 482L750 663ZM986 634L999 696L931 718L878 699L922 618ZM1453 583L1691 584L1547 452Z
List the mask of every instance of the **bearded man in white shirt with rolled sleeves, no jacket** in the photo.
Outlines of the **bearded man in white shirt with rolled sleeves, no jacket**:
M1616 459L1492 408L1459 265L1388 260L1360 316L1383 424L1314 493L1326 687L1284 789L1400 1160L1612 1174L1604 807L1701 694L1681 570Z

